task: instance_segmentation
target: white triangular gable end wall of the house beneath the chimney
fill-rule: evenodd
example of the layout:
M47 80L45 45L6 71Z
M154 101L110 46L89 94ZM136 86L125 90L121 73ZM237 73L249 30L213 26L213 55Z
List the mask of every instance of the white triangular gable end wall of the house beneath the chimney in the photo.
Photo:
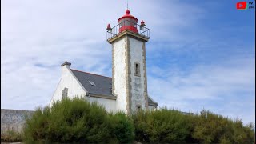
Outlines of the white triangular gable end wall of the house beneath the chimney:
M68 98L74 98L76 95L82 97L86 95L86 91L78 83L78 80L74 78L69 66L62 66L62 78L54 91L54 95L50 101L50 106L52 106L54 101L62 100L62 90L64 90L65 87L68 88Z

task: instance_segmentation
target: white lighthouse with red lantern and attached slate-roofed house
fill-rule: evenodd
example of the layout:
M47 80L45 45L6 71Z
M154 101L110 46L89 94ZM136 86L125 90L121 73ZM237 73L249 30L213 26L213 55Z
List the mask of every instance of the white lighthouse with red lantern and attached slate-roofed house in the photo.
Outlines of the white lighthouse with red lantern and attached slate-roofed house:
M149 29L145 22L126 14L118 25L107 26L107 41L112 45L112 78L70 69L71 63L62 64L62 78L50 106L62 98L80 96L89 102L98 102L107 111L122 110L126 114L138 109L152 110L158 106L147 93L146 42Z

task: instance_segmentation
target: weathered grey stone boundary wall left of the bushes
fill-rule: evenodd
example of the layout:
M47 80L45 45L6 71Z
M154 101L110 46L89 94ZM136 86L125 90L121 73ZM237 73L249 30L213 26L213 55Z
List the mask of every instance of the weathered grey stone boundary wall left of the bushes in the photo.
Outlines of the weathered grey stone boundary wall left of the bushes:
M25 116L31 116L34 111L1 109L1 134L8 130L20 133L24 126Z

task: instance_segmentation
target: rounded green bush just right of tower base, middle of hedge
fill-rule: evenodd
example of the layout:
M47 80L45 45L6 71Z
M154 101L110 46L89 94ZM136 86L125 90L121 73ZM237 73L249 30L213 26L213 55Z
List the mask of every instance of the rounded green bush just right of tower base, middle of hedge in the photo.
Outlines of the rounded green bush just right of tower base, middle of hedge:
M192 129L190 116L178 110L140 110L133 118L138 142L184 143Z

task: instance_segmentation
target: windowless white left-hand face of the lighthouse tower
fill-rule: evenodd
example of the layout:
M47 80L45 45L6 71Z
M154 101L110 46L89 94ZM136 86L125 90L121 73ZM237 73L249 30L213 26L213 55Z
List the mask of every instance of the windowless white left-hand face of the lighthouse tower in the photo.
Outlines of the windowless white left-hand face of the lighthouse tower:
M126 110L126 41L125 38L114 42L114 94L117 96L116 110Z

